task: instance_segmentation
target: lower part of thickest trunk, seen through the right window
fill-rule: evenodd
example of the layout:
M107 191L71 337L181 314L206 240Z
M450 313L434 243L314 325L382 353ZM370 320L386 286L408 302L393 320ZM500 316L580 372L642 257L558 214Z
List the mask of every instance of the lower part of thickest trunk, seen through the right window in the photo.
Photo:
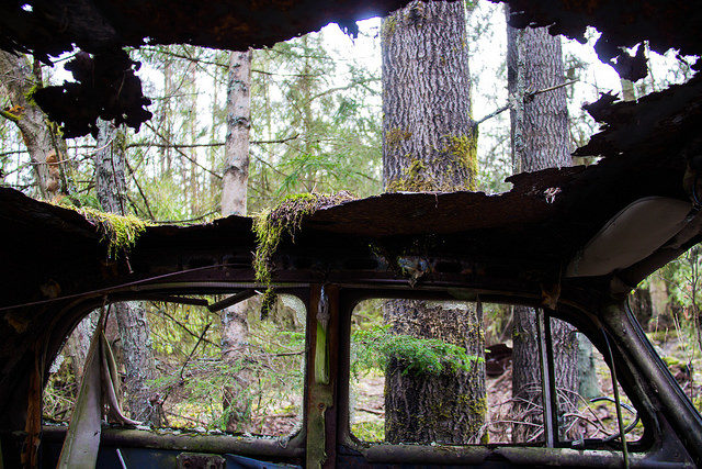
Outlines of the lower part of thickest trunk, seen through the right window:
M475 357L469 370L411 372L390 357L385 373L385 439L388 443L480 443L485 423L483 317L473 305L390 300L384 305L390 333L435 338ZM482 359L483 358L483 359Z

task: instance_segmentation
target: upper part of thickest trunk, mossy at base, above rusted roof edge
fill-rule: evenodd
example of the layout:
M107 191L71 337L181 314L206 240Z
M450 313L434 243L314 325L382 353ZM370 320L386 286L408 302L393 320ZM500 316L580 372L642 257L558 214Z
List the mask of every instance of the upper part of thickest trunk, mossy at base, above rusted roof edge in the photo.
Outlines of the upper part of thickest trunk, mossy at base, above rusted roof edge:
M412 1L383 20L381 42L385 189L474 190L463 2Z

